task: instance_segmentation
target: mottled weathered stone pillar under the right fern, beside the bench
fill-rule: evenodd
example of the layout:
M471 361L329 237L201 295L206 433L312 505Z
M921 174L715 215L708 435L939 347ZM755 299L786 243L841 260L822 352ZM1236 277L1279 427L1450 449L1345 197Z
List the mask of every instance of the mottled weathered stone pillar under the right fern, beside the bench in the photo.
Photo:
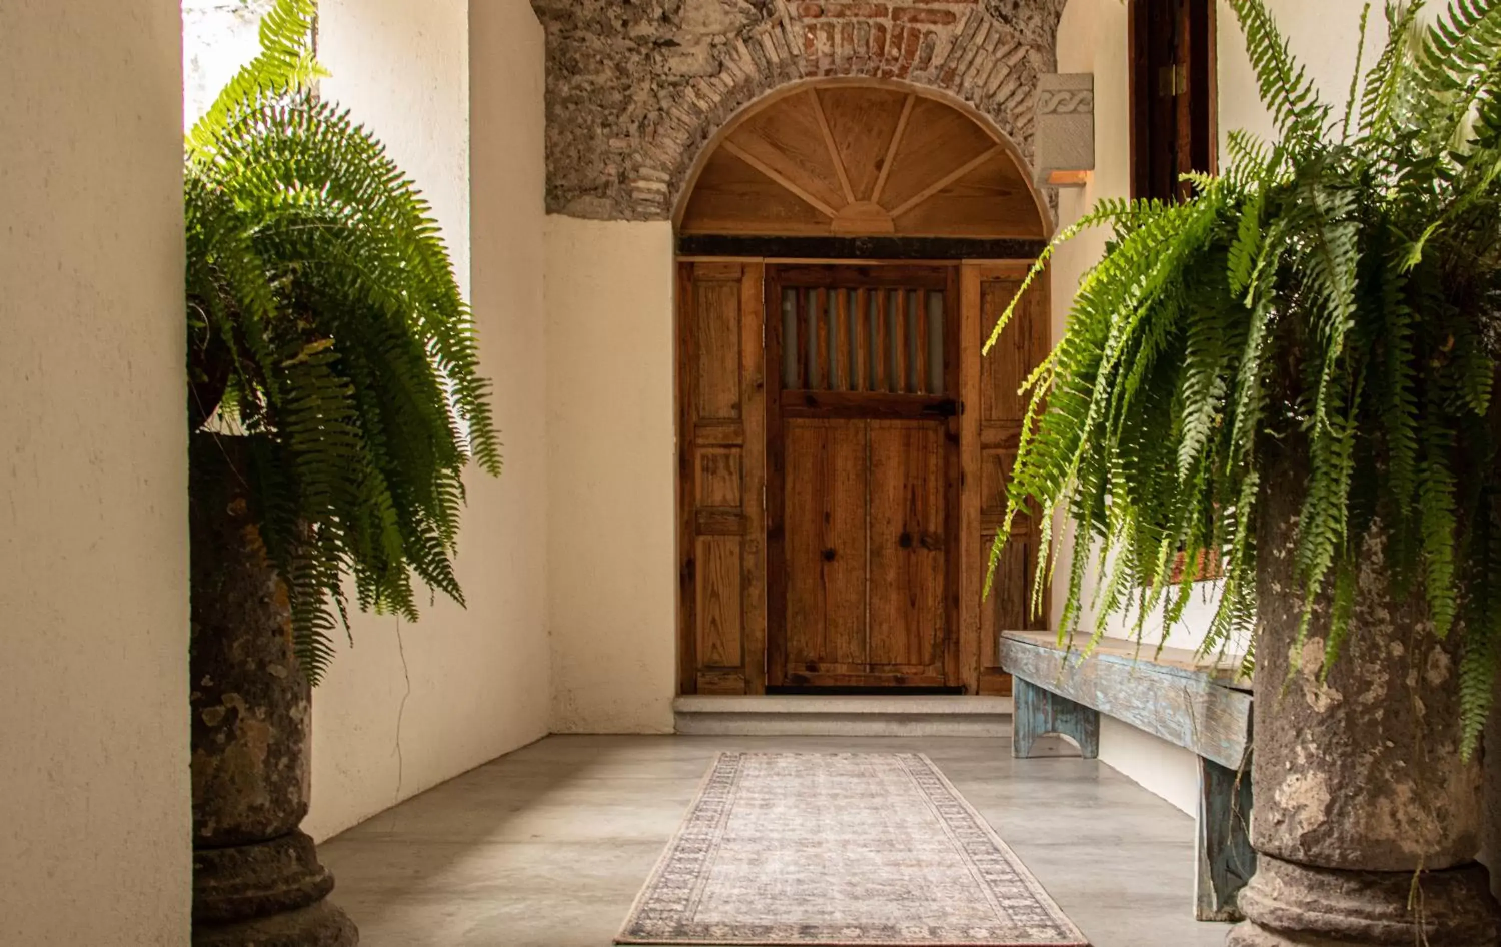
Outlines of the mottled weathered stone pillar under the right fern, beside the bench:
M1321 683L1327 599L1294 656L1303 485L1289 464L1262 500L1250 827L1259 858L1240 893L1247 921L1228 942L1492 947L1501 914L1475 863L1481 764L1459 756L1460 635L1435 638L1421 585L1397 593L1375 539L1349 638Z

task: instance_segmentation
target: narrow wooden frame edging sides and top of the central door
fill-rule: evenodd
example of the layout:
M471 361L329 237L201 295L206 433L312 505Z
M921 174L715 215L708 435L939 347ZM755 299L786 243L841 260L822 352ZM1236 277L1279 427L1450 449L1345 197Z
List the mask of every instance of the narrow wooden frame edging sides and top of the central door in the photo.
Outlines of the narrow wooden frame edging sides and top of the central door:
M904 275L922 275L932 285L928 290L944 293L944 398L959 402L961 392L961 339L959 339L959 261L911 263L901 260L860 260L860 261L818 261L818 260L785 260L767 263L763 275L766 293L763 318L766 320L766 551L767 551L767 608L766 608L766 683L767 686L782 686L787 674L787 441L784 438L782 413L782 288L781 276L788 270L820 269L824 273L839 270L886 270L892 285L911 285L911 279ZM932 279L938 276L938 279ZM880 285L871 281L869 275L856 281L862 287ZM826 281L826 285L827 284ZM862 395L872 398L872 395ZM893 396L892 417L901 417L905 408L902 398ZM929 398L932 401L932 398ZM943 674L946 686L964 686L959 642L959 555L955 542L959 530L959 503L962 483L959 480L959 405L956 413L946 417L944 423L944 659ZM907 414L911 419L932 417L931 414Z

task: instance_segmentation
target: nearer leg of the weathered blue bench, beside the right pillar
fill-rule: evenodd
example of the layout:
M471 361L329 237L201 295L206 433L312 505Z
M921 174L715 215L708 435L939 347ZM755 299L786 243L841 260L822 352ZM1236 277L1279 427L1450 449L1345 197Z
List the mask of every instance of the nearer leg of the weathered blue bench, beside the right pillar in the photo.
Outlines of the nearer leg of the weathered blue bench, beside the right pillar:
M1241 920L1235 900L1256 873L1249 827L1250 765L1240 774L1201 756L1198 867L1193 872L1196 918Z

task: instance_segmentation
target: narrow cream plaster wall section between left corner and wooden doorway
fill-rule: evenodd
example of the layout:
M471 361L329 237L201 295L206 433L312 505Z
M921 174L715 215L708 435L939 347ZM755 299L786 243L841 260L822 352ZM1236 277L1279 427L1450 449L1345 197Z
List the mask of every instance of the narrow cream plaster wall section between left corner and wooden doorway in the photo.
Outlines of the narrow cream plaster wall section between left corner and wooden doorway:
M672 227L549 216L555 732L671 732Z

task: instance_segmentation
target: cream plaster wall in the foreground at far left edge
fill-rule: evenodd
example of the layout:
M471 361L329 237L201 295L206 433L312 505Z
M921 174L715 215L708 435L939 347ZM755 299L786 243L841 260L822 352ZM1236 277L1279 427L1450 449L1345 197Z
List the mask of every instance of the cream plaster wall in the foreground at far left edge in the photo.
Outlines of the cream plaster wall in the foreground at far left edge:
M176 0L0 3L0 944L186 944Z

